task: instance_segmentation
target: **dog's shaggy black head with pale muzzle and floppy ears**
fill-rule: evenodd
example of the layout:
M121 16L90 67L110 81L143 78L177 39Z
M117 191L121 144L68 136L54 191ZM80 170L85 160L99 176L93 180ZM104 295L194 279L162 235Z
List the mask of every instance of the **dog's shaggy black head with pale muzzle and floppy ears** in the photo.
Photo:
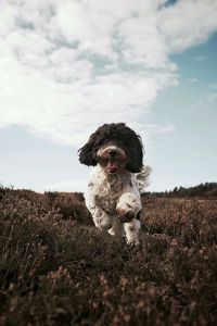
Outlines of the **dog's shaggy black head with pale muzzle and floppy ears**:
M124 123L104 124L79 149L79 161L86 165L101 164L110 173L142 168L143 147L140 136Z

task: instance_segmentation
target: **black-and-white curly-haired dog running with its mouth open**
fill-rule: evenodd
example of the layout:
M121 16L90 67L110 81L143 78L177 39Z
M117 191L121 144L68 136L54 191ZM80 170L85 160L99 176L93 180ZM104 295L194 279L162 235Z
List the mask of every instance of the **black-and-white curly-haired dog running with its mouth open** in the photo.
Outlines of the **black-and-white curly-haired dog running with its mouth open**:
M125 123L104 124L78 153L81 164L94 166L85 192L94 225L125 236L128 244L139 244L140 192L150 174L143 165L141 137Z

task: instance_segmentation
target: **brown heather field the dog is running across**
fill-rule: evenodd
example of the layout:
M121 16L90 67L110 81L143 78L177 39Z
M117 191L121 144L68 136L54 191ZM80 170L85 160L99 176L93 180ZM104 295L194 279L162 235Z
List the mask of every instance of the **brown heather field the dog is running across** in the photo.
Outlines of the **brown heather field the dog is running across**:
M217 197L143 197L141 244L81 193L0 188L0 325L217 325Z

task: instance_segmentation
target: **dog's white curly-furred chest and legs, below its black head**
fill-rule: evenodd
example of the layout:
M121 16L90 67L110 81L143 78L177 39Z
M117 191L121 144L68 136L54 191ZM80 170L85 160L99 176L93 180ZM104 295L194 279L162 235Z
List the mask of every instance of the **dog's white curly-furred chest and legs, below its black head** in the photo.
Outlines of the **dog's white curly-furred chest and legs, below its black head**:
M125 231L127 243L139 244L140 221L136 217L142 205L135 174L125 171L110 175L97 165L90 175L85 200L98 228L116 236ZM124 218L127 214L135 217L123 223L120 216Z

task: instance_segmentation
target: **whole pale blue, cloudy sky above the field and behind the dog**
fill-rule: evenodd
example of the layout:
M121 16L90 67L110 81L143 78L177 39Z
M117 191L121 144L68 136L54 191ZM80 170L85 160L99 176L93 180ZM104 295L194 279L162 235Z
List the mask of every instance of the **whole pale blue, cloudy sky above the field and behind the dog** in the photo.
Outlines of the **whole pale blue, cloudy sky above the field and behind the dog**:
M217 0L0 0L0 184L84 191L77 151L118 122L149 191L217 181Z

